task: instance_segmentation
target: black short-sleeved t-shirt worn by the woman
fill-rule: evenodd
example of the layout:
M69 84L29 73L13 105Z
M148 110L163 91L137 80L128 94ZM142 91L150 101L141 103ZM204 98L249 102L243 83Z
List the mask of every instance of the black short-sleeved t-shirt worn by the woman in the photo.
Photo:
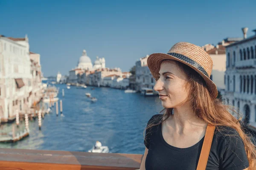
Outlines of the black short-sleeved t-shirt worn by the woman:
M162 114L154 115L148 124L152 121L155 124L162 117ZM239 133L230 127L218 129L215 128L206 170L243 170L249 167ZM204 137L191 147L178 148L163 139L162 124L149 128L145 134L144 144L148 148L146 170L196 170Z

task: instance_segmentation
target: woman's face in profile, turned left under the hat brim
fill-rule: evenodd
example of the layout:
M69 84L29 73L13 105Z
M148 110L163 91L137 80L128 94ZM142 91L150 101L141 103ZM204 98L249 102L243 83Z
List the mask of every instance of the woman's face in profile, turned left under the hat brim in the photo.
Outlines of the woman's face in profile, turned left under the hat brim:
M188 78L174 60L163 61L154 90L164 108L176 108L183 105L189 96Z

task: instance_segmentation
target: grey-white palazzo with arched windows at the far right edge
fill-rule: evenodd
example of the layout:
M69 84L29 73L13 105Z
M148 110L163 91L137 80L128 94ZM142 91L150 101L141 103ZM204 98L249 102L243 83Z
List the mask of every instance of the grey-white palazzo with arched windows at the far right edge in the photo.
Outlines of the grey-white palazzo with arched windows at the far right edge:
M256 126L256 35L226 46L225 90L227 104L239 108L244 121ZM253 30L256 33L256 30Z

